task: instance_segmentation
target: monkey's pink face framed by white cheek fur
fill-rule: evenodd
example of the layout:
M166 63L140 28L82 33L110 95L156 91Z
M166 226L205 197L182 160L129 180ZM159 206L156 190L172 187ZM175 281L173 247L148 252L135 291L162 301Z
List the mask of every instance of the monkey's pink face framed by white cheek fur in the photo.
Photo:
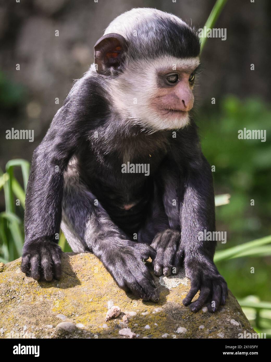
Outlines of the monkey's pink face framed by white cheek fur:
M121 115L150 130L179 129L189 122L198 58L164 56L127 62L112 81Z

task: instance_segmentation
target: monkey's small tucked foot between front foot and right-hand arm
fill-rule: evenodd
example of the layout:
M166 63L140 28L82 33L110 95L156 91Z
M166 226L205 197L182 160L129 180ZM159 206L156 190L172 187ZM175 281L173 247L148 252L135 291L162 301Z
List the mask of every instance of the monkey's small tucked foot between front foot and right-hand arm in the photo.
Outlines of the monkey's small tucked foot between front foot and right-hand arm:
M154 274L157 277L178 274L182 262L183 252L180 247L181 235L179 231L164 230L155 235L151 247L157 252L153 260Z

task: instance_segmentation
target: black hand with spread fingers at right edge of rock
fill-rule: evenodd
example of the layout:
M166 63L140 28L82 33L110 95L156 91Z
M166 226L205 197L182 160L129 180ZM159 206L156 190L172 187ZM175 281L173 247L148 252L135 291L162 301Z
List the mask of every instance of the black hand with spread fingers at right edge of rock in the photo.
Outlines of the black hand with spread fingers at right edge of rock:
M224 278L219 274L213 261L199 263L198 260L190 261L190 267L185 265L185 274L190 279L191 289L183 299L183 305L188 306L192 312L199 311L205 303L209 312L216 312L223 306L228 298L228 287ZM192 299L200 290L199 298Z

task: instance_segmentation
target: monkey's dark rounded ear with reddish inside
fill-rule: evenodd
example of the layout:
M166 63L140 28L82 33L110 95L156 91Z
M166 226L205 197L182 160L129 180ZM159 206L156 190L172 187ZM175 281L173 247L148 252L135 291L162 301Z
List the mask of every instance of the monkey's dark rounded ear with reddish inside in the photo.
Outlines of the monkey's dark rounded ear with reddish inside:
M123 71L124 53L128 48L126 39L116 33L105 34L94 46L94 63L97 73L117 75Z

